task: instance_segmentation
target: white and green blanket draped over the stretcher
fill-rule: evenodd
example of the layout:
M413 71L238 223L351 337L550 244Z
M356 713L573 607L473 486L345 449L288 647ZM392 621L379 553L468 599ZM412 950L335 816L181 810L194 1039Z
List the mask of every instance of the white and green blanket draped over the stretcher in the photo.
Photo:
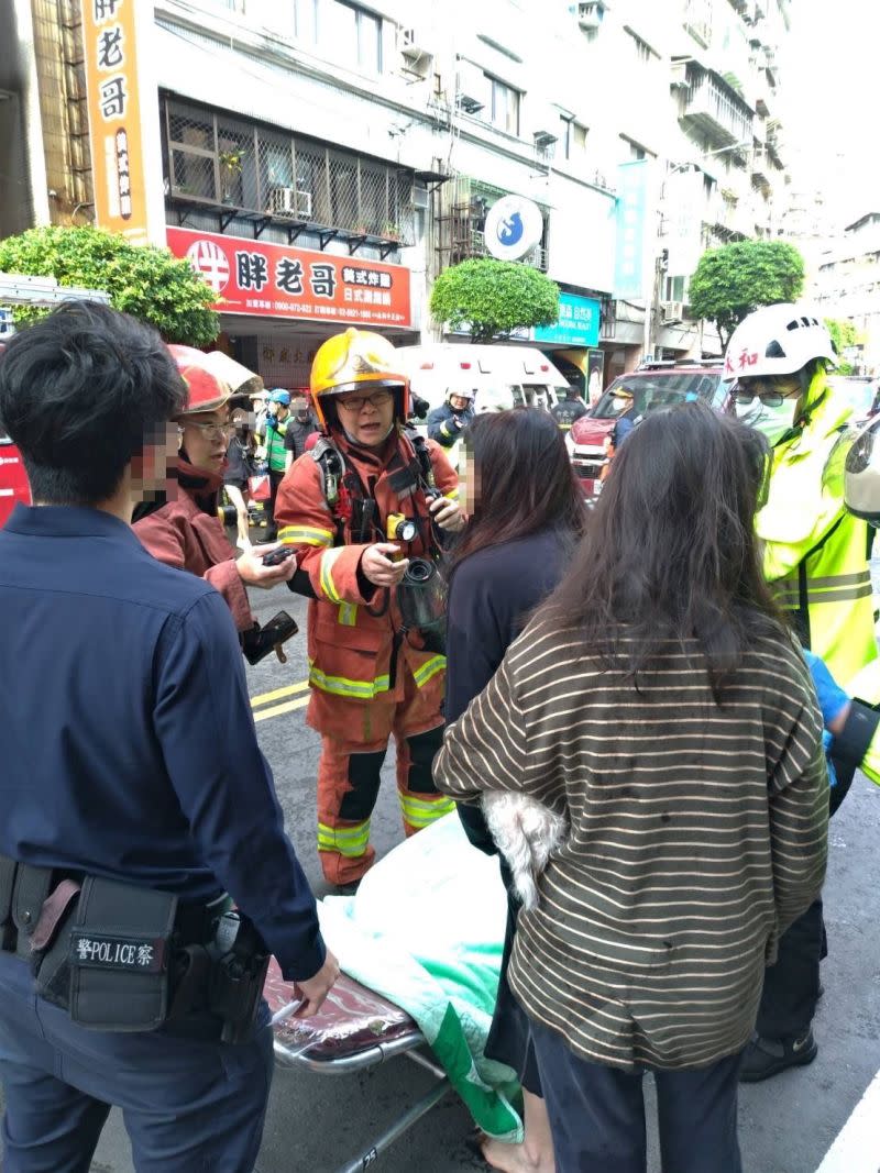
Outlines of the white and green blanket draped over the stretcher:
M325 897L319 911L341 968L415 1019L483 1132L521 1140L515 1074L483 1055L507 920L497 859L451 814L380 860L357 896Z

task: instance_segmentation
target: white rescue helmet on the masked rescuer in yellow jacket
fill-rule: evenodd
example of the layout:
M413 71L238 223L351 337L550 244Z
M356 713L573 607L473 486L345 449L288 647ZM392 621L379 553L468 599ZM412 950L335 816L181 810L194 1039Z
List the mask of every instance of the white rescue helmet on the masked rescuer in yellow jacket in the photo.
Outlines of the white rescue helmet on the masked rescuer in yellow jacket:
M724 355L725 379L794 374L811 359L837 364L825 323L806 306L765 305L750 313L731 334Z

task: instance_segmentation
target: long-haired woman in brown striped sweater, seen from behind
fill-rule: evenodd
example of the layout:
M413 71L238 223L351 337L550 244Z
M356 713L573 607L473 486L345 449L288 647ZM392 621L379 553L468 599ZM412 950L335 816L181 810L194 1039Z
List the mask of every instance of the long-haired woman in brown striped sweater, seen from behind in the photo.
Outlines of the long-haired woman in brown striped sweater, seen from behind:
M632 434L564 581L447 731L440 789L568 822L521 913L560 1173L739 1173L737 1072L765 962L821 889L827 775L753 531L765 448L686 404Z

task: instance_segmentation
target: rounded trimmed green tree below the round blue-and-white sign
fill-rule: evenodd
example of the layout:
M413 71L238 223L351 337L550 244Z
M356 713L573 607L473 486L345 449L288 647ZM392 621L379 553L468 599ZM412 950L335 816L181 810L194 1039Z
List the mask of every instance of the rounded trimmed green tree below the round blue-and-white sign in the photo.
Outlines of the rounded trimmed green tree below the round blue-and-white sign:
M469 326L472 343L490 343L517 328L551 326L559 318L560 287L529 265L488 257L462 260L434 282L431 312L451 330Z

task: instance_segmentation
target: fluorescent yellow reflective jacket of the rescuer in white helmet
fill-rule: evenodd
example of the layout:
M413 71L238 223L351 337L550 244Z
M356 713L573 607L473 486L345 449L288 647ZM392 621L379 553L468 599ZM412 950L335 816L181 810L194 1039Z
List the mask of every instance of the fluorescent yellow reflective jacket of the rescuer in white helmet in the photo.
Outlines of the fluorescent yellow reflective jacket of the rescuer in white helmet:
M847 680L876 657L868 530L825 481L852 408L831 393L824 373L813 380L807 402L823 395L803 433L773 449L767 502L756 529L779 604L803 643Z

